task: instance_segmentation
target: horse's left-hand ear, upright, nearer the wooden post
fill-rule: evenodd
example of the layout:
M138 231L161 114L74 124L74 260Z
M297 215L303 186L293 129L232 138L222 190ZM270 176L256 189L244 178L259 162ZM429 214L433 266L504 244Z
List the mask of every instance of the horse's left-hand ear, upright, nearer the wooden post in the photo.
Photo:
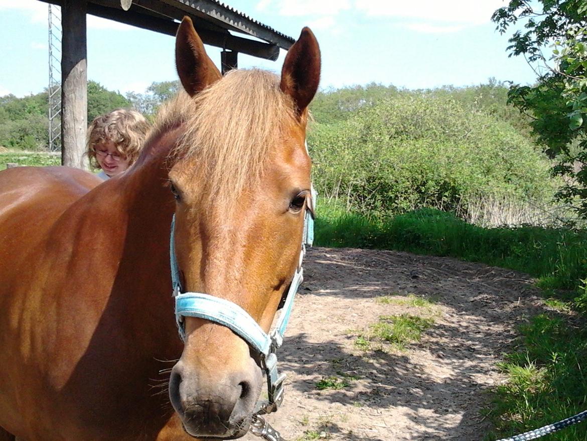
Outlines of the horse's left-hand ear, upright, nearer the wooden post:
M181 84L194 96L222 78L220 71L206 54L204 43L195 32L190 17L184 17L176 35L176 66Z

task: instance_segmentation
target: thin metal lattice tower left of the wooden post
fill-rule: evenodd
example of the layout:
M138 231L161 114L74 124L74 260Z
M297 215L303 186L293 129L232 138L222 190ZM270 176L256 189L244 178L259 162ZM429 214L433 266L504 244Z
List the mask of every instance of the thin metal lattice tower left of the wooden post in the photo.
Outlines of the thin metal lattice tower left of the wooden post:
M61 8L49 5L49 150L61 149Z

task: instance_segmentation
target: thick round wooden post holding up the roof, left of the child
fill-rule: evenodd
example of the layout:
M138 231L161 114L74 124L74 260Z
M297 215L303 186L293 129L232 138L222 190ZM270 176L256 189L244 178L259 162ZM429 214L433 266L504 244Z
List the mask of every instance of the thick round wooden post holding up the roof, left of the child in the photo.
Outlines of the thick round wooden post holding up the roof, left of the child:
M87 0L63 0L61 7L61 163L87 169Z

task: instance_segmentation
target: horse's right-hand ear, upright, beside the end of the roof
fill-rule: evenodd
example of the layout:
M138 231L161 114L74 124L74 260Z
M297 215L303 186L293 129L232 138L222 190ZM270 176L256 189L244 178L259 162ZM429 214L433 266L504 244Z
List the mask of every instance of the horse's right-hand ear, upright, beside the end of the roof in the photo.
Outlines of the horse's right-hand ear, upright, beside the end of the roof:
M319 82L320 48L316 37L306 27L285 56L279 87L294 99L298 115L302 115L314 98Z

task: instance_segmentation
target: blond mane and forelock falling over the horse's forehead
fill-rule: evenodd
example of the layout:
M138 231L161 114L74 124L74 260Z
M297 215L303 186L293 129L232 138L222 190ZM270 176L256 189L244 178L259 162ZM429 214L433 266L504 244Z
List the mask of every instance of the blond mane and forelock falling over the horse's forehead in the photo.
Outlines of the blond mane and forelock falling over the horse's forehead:
M294 103L279 89L279 77L242 69L193 97L180 92L157 116L153 133L184 123L171 155L204 163L208 197L230 205L245 188L257 185L271 151L294 121Z

